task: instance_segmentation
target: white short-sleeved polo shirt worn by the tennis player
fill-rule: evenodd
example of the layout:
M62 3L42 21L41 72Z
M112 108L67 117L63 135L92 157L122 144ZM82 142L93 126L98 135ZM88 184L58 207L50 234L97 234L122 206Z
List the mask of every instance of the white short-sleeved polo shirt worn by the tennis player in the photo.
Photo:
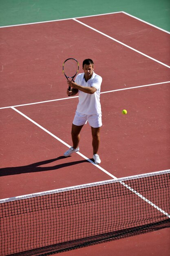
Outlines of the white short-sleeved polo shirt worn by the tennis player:
M97 89L93 94L88 94L79 90L79 103L76 111L85 115L100 114L100 88L102 84L102 77L95 74L93 71L91 79L86 82L84 79L84 73L81 73L76 76L75 82L78 85L95 87Z

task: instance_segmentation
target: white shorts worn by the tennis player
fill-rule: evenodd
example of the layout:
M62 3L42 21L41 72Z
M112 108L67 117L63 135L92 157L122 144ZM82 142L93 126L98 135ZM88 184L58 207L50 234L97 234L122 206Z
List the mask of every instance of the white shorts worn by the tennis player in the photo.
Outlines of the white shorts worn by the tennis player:
M84 115L84 114L75 112L75 117L73 120L74 125L81 126L81 125L87 124L87 121L90 124L90 126L93 128L98 128L102 126L102 113L94 114L94 115Z

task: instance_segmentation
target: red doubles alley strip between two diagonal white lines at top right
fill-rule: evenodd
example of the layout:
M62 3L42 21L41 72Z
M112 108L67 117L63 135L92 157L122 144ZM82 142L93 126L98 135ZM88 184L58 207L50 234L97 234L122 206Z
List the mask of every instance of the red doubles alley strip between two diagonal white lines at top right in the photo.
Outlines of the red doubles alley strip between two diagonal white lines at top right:
M124 13L93 16L81 18L79 20L104 34L121 41L121 43L125 43L140 52L148 54L158 61L170 65L169 33L151 27L140 20L125 15Z

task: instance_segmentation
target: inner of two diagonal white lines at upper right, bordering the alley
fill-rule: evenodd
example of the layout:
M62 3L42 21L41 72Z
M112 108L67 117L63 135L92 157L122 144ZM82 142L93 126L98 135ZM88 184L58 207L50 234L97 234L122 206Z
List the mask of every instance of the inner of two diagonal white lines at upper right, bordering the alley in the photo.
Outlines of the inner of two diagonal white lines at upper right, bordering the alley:
M155 62L157 62L157 63L159 63L159 64L161 64L161 65L163 65L163 66L165 66L165 67L170 68L170 66L166 65L165 63L163 63L163 62L161 62L161 61L158 61L158 60L156 60L155 58L152 58L152 57L148 56L147 54L144 54L143 52L140 52L140 51L138 51L137 49L132 48L132 47L130 47L129 45L126 45L126 44L122 43L121 41L119 41L119 40L117 40L117 39L115 39L115 38L113 38L113 37L111 37L111 36L108 36L107 34L104 34L103 32L101 32L101 31L99 31L99 30L97 30L97 29L95 29L95 28L93 28L93 27L91 27L91 26L88 26L88 25L86 25L85 23L83 23L83 22L81 22L81 21L79 21L79 20L76 20L75 18L73 18L73 20L75 20L76 22L80 23L81 25L83 25L83 26L85 26L85 27L88 27L89 29L92 29L93 31L95 31L95 32L97 32L97 33L99 33L99 34L101 34L101 35L103 35L103 36L106 36L107 38L110 38L111 40L113 40L113 41L115 41L115 42L117 42L117 43L119 43L119 44L121 44L121 45L124 45L125 47L131 49L132 51L135 51L135 52L137 52L137 53L139 53L139 54L141 54L141 55L143 55L143 56L145 56L145 57L147 57L147 58L150 58L152 61L155 61Z

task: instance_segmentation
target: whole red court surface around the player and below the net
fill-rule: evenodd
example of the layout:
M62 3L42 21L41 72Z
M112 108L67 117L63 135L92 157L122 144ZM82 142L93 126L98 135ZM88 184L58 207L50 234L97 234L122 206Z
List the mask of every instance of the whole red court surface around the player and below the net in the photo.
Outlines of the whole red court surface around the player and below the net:
M0 198L170 168L169 34L124 13L77 20L139 52L75 20L1 28ZM78 102L66 97L68 57L80 72L92 58L103 78L99 166L79 154L63 157ZM79 147L92 158L88 124ZM168 256L169 244L167 228L61 255Z

